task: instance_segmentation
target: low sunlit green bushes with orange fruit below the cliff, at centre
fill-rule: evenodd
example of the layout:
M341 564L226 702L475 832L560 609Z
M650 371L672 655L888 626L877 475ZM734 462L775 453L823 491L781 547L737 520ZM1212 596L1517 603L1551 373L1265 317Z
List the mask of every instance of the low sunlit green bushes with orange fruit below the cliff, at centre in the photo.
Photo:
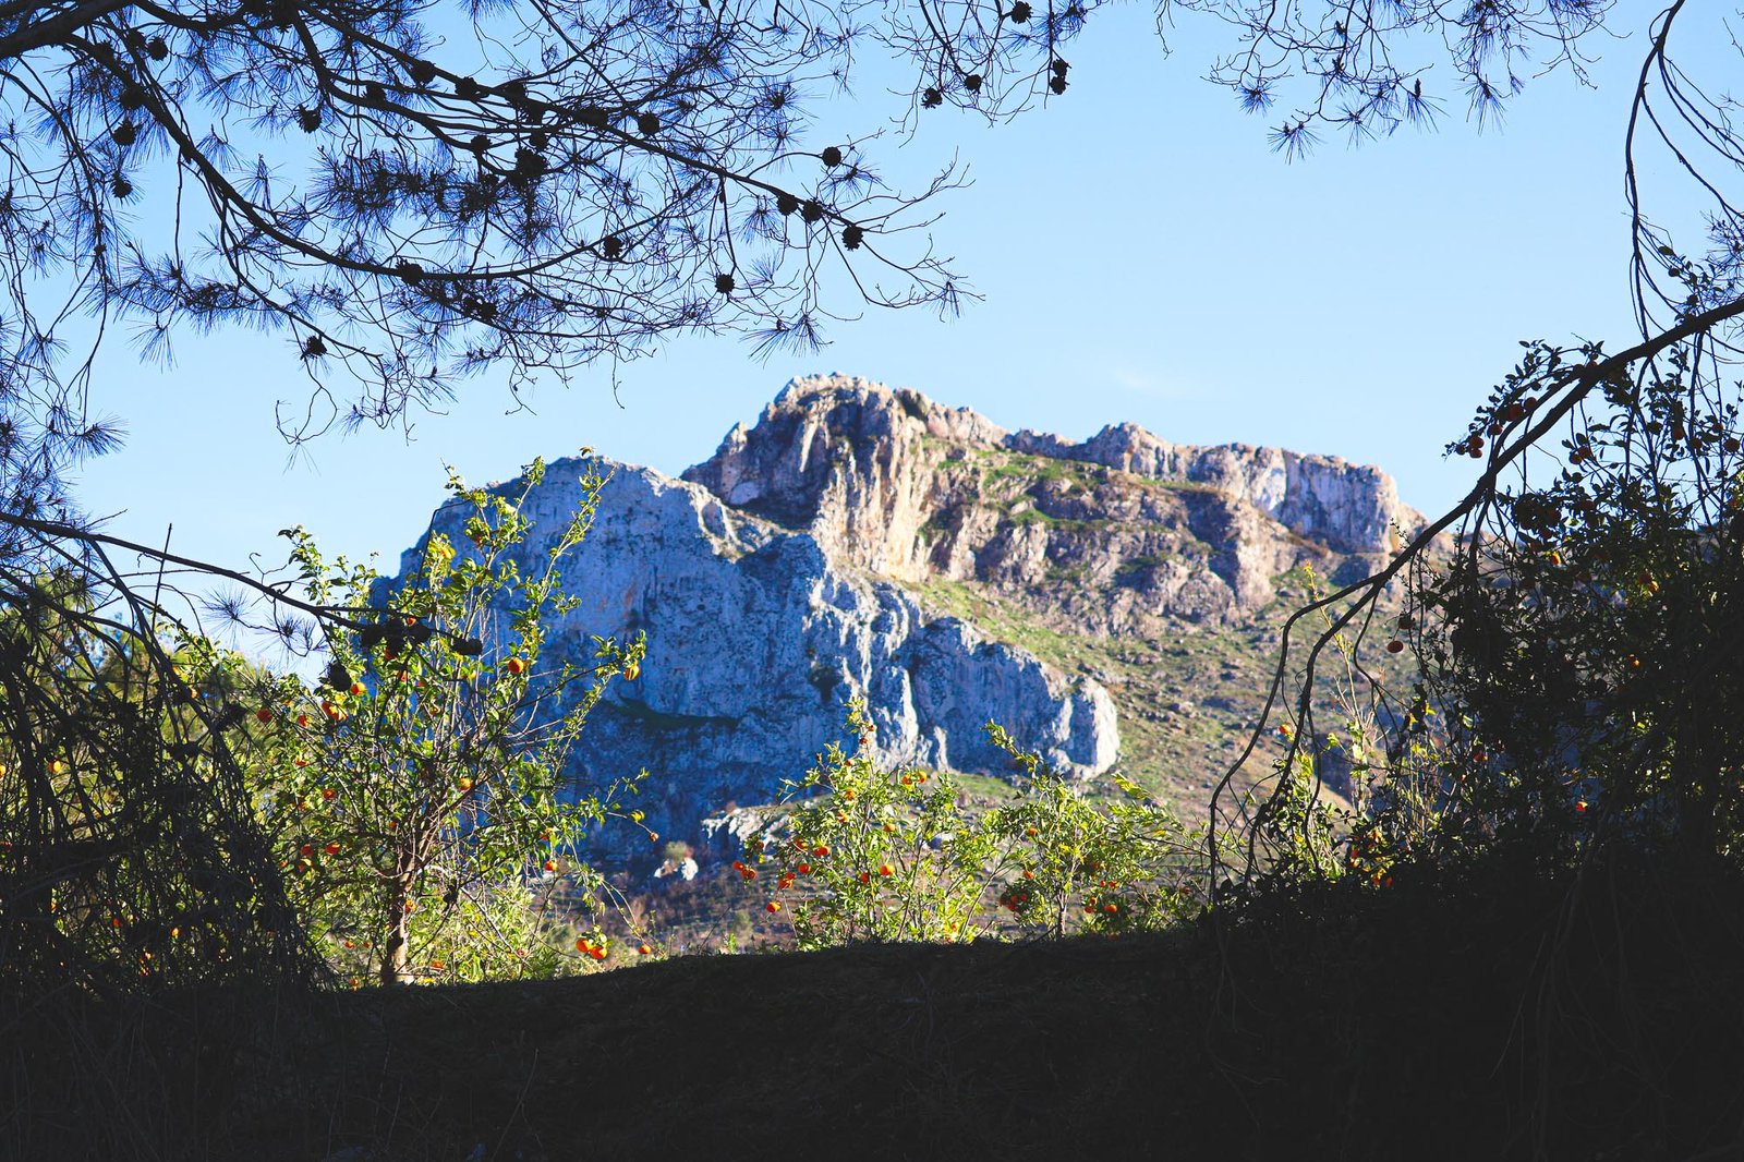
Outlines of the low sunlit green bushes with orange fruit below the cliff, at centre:
M800 780L780 843L755 839L736 864L771 885L766 909L790 913L800 947L856 940L1156 928L1203 900L1198 832L1116 776L1123 796L1093 803L998 724L1018 794L982 813L949 771L881 769L872 721L848 707L837 743Z

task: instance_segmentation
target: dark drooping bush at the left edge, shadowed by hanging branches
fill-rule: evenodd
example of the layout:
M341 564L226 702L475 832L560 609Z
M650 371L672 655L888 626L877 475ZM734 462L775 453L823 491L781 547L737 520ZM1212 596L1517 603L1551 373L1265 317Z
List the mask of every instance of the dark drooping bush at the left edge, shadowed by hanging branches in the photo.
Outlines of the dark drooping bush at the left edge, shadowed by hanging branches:
M101 574L0 569L0 995L317 975L221 687Z

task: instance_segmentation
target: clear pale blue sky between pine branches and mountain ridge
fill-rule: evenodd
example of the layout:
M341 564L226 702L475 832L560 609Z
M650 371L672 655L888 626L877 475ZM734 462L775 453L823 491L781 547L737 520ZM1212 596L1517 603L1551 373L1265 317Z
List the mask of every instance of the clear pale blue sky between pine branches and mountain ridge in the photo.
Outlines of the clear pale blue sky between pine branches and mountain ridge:
M968 164L973 187L945 195L935 227L985 295L959 319L867 309L816 356L767 363L736 338L684 338L619 366L616 396L609 366L542 386L535 414L506 414L501 380L481 379L410 443L335 434L296 457L272 422L309 389L286 340L183 337L169 370L117 344L92 403L126 419L127 447L84 471L82 497L119 536L160 544L174 525L173 548L234 567L283 562L274 532L293 523L391 562L443 462L483 482L591 445L678 473L790 377L841 370L1005 427L1083 438L1132 420L1182 443L1334 454L1439 511L1475 473L1441 448L1517 340L1631 335L1622 131L1652 10L1620 5L1627 38L1587 45L1596 89L1566 70L1529 79L1479 133L1442 65L1425 84L1448 98L1439 131L1329 140L1285 164L1268 124L1202 79L1228 30L1184 14L1165 56L1146 7L1111 5L1073 47L1064 98L994 127L931 112L912 141L870 147L898 181ZM875 82L814 108L816 147L896 112Z

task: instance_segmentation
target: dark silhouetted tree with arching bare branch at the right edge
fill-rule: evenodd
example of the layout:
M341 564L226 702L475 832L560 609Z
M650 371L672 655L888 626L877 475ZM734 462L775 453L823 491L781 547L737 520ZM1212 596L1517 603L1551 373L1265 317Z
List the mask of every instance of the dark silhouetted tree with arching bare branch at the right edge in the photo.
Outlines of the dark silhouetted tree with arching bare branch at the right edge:
M1298 790L1287 778L1259 810L1271 827L1231 811L1223 782L1214 822L1245 830L1250 867L1296 841L1369 851L1362 832L1376 827L1388 832L1381 846L1427 860L1507 841L1547 867L1634 843L1744 855L1744 136L1737 101L1676 65L1674 33L1704 35L1683 28L1690 19L1678 2L1652 21L1620 127L1638 335L1615 352L1523 342L1523 359L1448 445L1482 466L1465 499L1385 569L1292 618L1296 628L1327 616L1291 696L1292 764L1313 757L1313 673L1339 635L1409 644L1420 680L1409 693L1371 686L1367 710L1388 735L1388 759L1369 771L1383 808L1346 841L1311 841L1320 817L1284 810ZM1638 176L1650 162L1683 180L1702 237L1655 222ZM1397 618L1380 616L1388 591ZM1292 665L1285 632L1273 703ZM1441 707L1434 729L1407 701ZM1414 822L1386 811L1406 778L1418 787Z

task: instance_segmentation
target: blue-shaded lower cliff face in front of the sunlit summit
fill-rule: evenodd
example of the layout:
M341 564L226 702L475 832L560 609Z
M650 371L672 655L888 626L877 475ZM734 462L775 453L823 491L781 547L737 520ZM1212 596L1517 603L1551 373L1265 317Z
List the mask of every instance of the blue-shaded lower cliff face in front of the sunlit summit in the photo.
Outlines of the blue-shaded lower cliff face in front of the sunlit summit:
M523 569L574 511L579 469L553 462L527 497ZM1005 771L982 733L991 719L1080 776L1114 762L1114 705L1093 680L928 619L902 586L706 489L647 468L614 473L588 539L563 558L579 604L546 649L582 660L593 635L647 633L640 675L593 710L574 775L603 785L645 768L637 806L661 836L694 839L705 815L774 799L841 738L849 696L867 700L884 762ZM457 522L438 513L433 529L464 544Z

